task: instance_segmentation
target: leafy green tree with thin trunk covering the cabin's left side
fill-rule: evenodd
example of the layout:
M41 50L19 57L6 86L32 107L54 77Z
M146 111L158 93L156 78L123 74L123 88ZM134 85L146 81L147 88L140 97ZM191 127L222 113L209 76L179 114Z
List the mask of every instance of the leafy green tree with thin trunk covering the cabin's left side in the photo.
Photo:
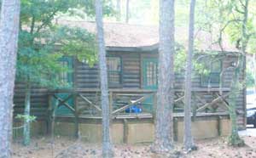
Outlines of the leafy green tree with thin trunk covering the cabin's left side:
M85 5L84 5L85 3ZM111 14L109 3L104 3L104 14ZM17 62L17 81L26 83L24 111L24 144L30 143L30 99L33 85L42 87L70 87L56 75L70 71L58 62L64 56L77 57L90 65L96 62L95 36L81 28L55 24L57 17L83 16L84 10L94 16L92 1L73 0L35 1L22 0L20 11L20 40Z

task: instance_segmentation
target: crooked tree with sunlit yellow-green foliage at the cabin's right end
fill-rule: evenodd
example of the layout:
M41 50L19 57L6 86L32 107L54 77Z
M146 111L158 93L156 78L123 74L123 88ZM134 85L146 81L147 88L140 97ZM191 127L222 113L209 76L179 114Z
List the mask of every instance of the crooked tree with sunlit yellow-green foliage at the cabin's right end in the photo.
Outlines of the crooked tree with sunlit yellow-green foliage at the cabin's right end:
M229 112L231 121L229 144L233 146L244 145L244 141L238 134L238 110L236 100L238 96L241 95L241 91L244 91L246 88L244 77L241 77L242 71L246 68L246 54L255 53L255 5L256 3L254 1L249 0L222 0L207 1L206 6L207 13L212 14L207 24L211 30L219 31L217 42L220 48L224 51L224 47L222 46L223 36L227 35L230 37L230 41L233 42L233 45L236 45L238 50L236 52L237 62L233 67L234 74L232 76L229 96Z

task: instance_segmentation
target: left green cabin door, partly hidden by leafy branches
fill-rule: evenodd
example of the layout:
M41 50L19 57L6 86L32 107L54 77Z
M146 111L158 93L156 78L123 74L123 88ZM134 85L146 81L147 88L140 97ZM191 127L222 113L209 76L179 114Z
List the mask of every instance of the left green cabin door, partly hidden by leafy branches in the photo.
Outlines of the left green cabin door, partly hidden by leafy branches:
M61 89L63 88L73 88L73 59L72 58L68 58L68 57L64 57L60 59L61 65L63 65L63 67L67 67L70 71L65 71L62 72L59 76L61 79L61 82L65 85L63 87L61 87ZM62 100L65 100L67 98L67 101L65 103L67 103L68 105L70 105L71 107L74 107L74 100L73 100L73 96L69 97L71 95L71 93L56 93L55 94L57 97L59 97ZM55 104L59 104L60 101L55 100ZM64 104L60 104L59 107L56 109L56 115L68 115L68 114L73 114L71 110L69 110Z

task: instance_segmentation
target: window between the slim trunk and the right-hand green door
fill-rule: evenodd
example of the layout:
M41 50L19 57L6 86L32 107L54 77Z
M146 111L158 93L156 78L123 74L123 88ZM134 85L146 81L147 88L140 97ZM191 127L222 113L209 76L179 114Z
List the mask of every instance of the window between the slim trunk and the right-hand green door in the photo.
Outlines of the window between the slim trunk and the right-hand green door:
M108 57L108 84L109 86L121 85L121 59L119 57Z

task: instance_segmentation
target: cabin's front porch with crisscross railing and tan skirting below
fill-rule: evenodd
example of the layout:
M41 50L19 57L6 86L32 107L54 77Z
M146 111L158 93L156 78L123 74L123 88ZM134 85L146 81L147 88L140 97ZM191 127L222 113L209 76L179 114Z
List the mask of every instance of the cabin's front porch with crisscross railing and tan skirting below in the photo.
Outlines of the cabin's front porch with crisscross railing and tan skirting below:
M221 91L218 88L193 89L193 103L196 104L192 118L197 138L229 133L227 112L229 104L226 100L229 91L229 88L222 88ZM98 142L101 138L102 121L100 95L100 89L97 88L61 89L49 92L48 132L57 131L62 135L74 133L76 136L85 137L89 142ZM183 90L175 89L173 132L176 140L180 140L183 133L183 98ZM73 99L73 104L70 104L70 99ZM118 137L114 142L132 144L152 140L156 104L155 90L109 89L109 103L113 122L112 131ZM60 107L65 107L70 112L60 114L57 112ZM204 132L205 129L210 132Z

